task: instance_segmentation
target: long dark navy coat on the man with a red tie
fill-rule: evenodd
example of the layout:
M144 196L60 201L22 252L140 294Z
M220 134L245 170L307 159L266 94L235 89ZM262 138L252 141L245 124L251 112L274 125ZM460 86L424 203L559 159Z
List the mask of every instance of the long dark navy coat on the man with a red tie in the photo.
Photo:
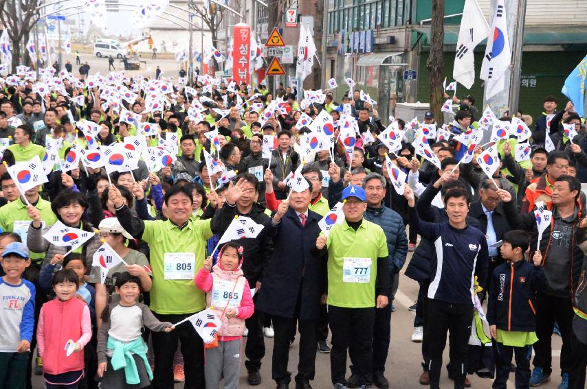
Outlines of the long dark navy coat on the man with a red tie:
M324 250L312 250L320 235L318 222L322 216L308 211L302 226L296 211L288 209L277 226L272 219L263 229L274 244L271 261L263 272L256 307L267 314L296 317L300 304L300 320L318 320L320 296L326 293L326 261ZM301 287L301 291L300 291Z

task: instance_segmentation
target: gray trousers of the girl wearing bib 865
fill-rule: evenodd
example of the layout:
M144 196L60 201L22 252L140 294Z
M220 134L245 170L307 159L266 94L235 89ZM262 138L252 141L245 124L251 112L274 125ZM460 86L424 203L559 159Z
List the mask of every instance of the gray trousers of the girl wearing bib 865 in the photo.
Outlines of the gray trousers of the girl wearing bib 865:
M206 349L206 389L220 388L220 378L224 375L224 389L239 388L241 368L242 339L218 342L218 347Z

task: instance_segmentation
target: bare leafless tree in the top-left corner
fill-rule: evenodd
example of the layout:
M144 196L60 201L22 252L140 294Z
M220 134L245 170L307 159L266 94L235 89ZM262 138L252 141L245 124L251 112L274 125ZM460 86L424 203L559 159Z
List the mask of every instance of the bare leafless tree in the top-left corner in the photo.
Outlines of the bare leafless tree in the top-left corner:
M16 73L21 62L21 43L28 40L40 5L41 0L0 0L0 22L8 30L12 42L12 73Z

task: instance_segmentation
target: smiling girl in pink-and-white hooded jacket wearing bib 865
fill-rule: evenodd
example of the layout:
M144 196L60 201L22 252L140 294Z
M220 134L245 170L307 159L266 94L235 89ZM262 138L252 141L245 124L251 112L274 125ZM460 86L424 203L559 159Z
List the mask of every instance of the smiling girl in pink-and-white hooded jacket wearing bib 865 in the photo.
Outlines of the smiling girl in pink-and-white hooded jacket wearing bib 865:
M206 349L206 389L219 388L222 375L224 388L236 389L245 319L252 316L255 307L249 283L241 270L243 247L230 241L222 247L218 258L214 267L212 257L206 258L195 278L196 286L206 292L206 305L222 321L218 346Z

